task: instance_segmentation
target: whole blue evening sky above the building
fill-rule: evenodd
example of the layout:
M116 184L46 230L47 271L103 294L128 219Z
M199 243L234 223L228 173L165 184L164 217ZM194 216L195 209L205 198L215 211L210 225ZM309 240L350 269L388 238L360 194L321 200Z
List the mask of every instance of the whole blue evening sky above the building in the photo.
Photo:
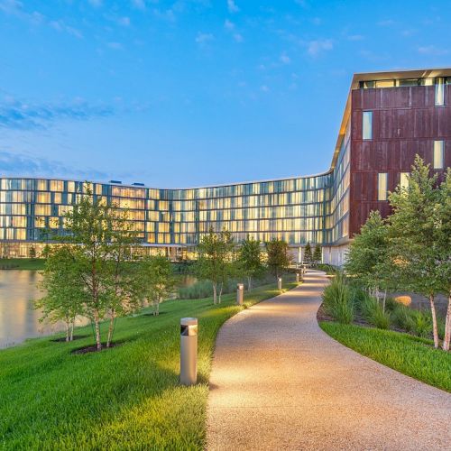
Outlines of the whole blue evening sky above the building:
M354 72L449 67L451 2L0 0L0 174L327 170Z

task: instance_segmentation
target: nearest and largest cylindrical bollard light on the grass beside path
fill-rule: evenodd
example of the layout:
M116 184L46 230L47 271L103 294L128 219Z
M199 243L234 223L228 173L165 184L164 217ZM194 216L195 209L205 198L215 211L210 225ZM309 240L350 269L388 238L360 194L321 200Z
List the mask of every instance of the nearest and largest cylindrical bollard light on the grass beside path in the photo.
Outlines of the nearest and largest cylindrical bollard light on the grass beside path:
M198 318L180 319L180 383L198 382Z

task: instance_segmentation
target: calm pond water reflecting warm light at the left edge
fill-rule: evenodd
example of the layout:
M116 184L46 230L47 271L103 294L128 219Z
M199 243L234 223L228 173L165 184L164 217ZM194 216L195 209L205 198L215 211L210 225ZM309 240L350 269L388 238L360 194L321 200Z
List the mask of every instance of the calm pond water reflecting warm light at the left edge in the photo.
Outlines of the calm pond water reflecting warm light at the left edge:
M23 342L26 338L45 336L65 330L64 323L40 323L41 311L33 308L33 300L40 299L37 288L41 275L36 271L0 270L0 349ZM196 281L191 276L180 276L179 286ZM86 324L80 318L78 326Z

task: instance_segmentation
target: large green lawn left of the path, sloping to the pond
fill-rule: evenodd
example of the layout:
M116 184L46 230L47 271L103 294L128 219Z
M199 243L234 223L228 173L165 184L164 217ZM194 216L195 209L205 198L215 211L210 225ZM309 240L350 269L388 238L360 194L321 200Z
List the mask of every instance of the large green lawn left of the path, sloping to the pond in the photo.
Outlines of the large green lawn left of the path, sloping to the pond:
M296 284L284 286L289 289ZM267 285L244 295L244 308L279 294ZM100 353L93 343L55 336L0 351L0 447L5 449L202 449L208 376L216 333L237 313L235 294L161 304L160 317L120 318ZM179 318L198 318L198 384L179 385ZM106 324L103 325L105 332Z

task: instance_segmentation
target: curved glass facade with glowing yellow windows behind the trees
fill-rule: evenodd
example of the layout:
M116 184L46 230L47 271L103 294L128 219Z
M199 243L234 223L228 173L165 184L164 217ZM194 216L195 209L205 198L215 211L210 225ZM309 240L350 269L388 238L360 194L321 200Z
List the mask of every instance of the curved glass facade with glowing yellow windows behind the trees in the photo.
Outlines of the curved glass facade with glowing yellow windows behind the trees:
M152 189L89 183L94 196L127 208L143 245L189 247L210 226L226 228L239 243L264 241L336 244L347 234L349 155L344 144L336 168L292 179L195 189ZM64 235L64 214L87 183L61 179L0 179L0 240L4 256L27 256L49 230ZM38 249L39 250L39 249Z

